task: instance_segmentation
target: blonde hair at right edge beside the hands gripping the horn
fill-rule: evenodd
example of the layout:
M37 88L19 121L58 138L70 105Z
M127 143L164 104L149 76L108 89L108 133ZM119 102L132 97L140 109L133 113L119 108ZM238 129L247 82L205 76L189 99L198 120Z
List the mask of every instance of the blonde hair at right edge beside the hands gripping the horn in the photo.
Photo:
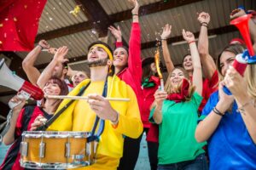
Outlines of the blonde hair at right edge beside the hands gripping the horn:
M247 82L247 93L256 99L256 65L247 65L247 71L244 77Z

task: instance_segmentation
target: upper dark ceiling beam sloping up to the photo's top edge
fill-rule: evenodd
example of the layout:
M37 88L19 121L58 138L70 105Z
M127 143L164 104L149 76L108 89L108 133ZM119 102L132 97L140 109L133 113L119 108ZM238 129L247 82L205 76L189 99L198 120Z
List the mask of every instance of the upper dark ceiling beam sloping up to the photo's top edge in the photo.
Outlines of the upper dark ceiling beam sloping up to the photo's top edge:
M182 5L187 5L189 3L196 3L196 2L201 2L201 1L202 0L182 0L182 1L169 0L166 3L163 1L160 1L158 3L151 3L151 4L144 5L144 6L140 7L140 14L142 14L142 15L154 14L154 13L160 12L161 10L177 8ZM90 3L90 2L97 2L97 1L96 0L94 0L94 1L88 1L88 0L82 1L81 0L81 2ZM90 10L92 10L92 9L93 8L90 8ZM92 14L97 14L97 12L98 11L94 10L94 13L92 13ZM119 12L116 14L109 15L109 18L107 18L107 21L110 20L110 22L107 22L106 25L109 23L112 24L112 23L120 22L122 20L130 20L130 19L131 19L131 9L125 10L125 11L122 11L122 12ZM100 23L97 23L98 20L100 20ZM67 26L67 27L64 27L61 29L57 29L55 31L44 32L42 34L38 34L38 36L36 37L36 42L38 42L41 39L49 40L49 39L54 39L57 37L67 36L69 34L74 34L79 31L87 31L87 30L93 29L94 26L103 25L104 20L105 20L104 18L98 19L96 17L96 20L93 20L93 21L96 21L95 24L92 24L93 21L85 21L80 24L75 24L73 26ZM107 25L107 26L109 26L109 25ZM108 30L106 30L106 31L108 31Z

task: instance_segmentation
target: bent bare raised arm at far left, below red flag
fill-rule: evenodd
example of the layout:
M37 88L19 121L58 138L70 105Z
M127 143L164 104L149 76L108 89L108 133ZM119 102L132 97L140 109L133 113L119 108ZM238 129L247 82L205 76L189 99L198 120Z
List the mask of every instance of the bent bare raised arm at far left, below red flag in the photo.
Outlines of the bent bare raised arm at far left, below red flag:
M26 72L26 77L33 85L38 82L38 77L40 77L40 72L34 66L38 55L44 48L49 48L49 44L45 40L38 42L38 45L32 49L32 51L26 55L26 58L22 61L22 68Z

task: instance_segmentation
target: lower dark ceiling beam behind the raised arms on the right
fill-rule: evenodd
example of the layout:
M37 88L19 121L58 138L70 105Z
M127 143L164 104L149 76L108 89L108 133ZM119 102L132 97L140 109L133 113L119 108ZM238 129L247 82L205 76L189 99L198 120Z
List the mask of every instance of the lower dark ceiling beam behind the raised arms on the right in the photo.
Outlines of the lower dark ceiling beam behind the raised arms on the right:
M221 34L230 33L233 31L237 31L236 26L223 26L223 27L208 30L208 35L209 36L221 35ZM199 37L199 33L200 33L199 31L195 32L194 33L195 37ZM184 41L183 36L170 37L167 39L168 44L173 42L181 42L181 41ZM154 48L154 47L156 47L156 41L142 43L142 49Z

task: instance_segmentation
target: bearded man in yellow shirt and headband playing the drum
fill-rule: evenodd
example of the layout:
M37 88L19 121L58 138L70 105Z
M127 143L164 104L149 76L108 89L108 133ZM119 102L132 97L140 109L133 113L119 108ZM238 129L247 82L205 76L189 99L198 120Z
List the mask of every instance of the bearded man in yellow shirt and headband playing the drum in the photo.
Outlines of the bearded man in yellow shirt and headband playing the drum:
M119 77L109 76L113 74L113 54L108 44L104 42L90 44L87 56L90 79L81 82L68 95L79 94L81 88L90 83L82 94L89 99L75 100L47 130L91 132L98 116L105 120L105 126L96 150L96 163L81 169L116 169L123 155L123 136L137 139L143 132L137 98L131 87ZM108 98L130 100L109 102L102 97L104 88ZM69 101L70 99L64 99L56 112L66 107Z

